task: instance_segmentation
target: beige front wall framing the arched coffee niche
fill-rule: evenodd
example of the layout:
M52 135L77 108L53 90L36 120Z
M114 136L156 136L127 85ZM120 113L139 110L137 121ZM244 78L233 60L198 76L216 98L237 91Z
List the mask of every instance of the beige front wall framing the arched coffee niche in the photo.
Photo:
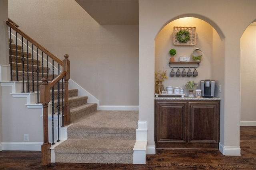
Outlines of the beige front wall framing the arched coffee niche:
M212 69L213 78L218 78L223 90L221 151L240 155L240 95L234 93L240 90L240 77L232 75L240 74L239 69L234 69L240 67L240 37L255 20L255 6L256 1L139 1L139 119L148 121L148 145L154 146L154 95L149 92L154 92L155 38L170 21L196 16L216 29L224 45L222 75ZM213 62L218 66L218 61Z

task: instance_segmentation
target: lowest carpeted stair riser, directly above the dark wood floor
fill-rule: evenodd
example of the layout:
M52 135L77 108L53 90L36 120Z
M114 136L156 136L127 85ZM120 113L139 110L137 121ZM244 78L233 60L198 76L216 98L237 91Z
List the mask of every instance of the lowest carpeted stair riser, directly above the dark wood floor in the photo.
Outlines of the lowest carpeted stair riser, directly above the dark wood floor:
M79 159L78 159L79 156ZM55 153L55 162L93 164L132 164L133 154L73 154Z

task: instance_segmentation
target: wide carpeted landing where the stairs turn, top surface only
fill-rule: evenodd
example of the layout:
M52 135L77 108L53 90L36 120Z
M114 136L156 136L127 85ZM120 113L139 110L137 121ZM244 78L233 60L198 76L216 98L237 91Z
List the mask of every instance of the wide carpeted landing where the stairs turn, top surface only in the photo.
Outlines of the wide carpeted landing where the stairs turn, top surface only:
M74 122L68 133L134 133L138 111L95 111Z

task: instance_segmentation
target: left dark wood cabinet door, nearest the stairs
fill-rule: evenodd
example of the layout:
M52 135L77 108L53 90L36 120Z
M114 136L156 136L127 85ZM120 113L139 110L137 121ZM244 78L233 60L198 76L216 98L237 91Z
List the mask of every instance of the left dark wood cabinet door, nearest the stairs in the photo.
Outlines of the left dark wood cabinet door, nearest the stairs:
M186 102L156 102L157 148L173 148L176 144L187 143Z

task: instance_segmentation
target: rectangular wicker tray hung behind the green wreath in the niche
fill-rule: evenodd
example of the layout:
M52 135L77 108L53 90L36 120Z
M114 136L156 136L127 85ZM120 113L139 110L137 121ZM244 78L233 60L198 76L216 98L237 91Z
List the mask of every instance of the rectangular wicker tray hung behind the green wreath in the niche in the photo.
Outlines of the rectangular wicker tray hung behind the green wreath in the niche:
M190 40L186 43L180 43L177 40L176 33L180 30L188 30L190 33ZM174 45L196 45L196 27L173 27L173 44Z

